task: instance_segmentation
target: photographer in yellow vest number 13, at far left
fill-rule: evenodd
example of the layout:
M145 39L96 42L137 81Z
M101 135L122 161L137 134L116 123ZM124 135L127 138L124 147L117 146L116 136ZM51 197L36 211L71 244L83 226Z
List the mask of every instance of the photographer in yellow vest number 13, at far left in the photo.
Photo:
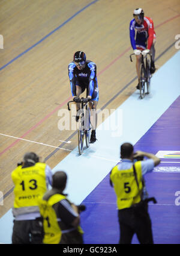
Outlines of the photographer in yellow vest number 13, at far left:
M14 183L13 244L42 243L42 222L38 199L52 185L52 170L40 163L34 152L24 155L11 173Z

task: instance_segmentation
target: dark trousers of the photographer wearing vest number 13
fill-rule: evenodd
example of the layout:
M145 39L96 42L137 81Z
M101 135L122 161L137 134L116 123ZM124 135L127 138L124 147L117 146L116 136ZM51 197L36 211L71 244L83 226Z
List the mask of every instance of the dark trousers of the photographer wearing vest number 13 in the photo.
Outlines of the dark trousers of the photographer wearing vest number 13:
M39 244L42 242L43 228L40 220L14 220L13 244Z

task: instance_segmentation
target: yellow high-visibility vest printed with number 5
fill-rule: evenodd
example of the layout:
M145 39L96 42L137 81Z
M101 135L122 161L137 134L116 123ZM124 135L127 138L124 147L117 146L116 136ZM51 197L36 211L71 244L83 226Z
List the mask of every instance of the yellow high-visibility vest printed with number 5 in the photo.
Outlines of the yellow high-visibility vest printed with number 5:
M110 180L113 183L117 196L117 205L119 210L129 208L141 200L143 189L141 162L137 161L134 166L136 168L139 189L134 177L133 165L127 170L119 170L118 166L115 166L110 173Z

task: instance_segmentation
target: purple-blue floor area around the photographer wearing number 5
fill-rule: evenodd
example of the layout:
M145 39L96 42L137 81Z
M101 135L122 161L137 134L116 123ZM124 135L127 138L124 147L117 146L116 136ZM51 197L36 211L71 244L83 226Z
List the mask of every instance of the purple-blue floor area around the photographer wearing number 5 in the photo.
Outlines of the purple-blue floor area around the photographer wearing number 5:
M134 149L157 154L159 150L180 149L180 96L136 143ZM176 161L179 161L176 159ZM180 190L180 170L163 172L163 167L179 166L175 159L166 159L161 170L146 175L149 196L155 196L157 204L149 204L154 243L180 243L180 206L175 205L175 192ZM157 170L156 170L157 169ZM109 184L109 174L83 201L87 210L82 214L85 243L118 243L119 225L116 196ZM180 201L180 199L179 199ZM102 232L103 231L103 232ZM134 236L133 243L137 243Z

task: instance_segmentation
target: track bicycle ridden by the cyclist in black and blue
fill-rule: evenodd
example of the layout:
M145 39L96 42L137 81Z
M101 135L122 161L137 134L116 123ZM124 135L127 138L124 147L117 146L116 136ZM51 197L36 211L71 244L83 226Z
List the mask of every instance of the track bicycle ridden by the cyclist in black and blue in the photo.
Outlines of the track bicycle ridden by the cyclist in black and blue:
M68 105L68 110L70 110L70 102L74 101L69 101L67 103ZM84 136L86 140L86 147L89 148L89 143L90 143L90 133L91 133L91 111L88 106L88 102L93 102L91 99L87 98L80 98L80 110L77 111L77 116L79 116L79 129L78 129L78 149L79 149L79 154L82 155L83 153L83 143L84 143Z

